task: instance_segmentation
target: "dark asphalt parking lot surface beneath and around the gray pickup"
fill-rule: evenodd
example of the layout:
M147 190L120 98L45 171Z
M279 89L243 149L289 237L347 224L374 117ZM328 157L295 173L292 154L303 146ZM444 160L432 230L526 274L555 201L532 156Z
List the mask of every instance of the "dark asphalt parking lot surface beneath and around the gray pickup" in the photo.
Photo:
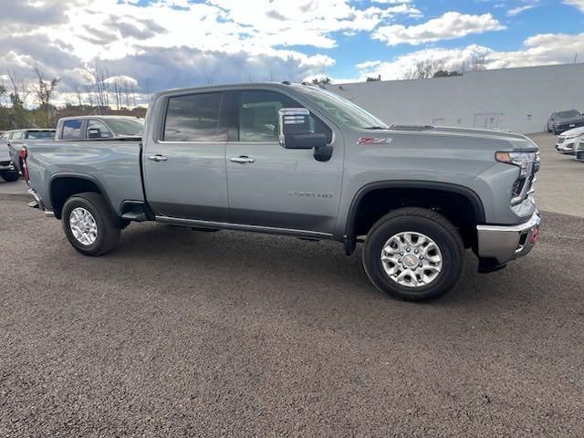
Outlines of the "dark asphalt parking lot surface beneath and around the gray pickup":
M330 242L132 224L83 257L0 194L0 436L581 436L584 163L534 138L537 248L426 304Z

